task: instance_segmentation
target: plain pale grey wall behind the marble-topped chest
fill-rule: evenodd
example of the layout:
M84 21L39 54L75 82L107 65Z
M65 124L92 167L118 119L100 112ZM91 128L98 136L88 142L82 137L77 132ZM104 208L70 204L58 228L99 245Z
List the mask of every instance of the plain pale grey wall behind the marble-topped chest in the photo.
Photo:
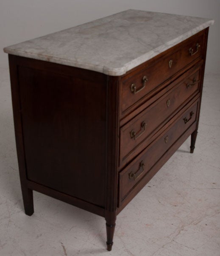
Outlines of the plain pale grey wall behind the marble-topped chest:
M0 67L8 67L8 45L131 8L214 19L206 72L220 72L220 0L0 0Z

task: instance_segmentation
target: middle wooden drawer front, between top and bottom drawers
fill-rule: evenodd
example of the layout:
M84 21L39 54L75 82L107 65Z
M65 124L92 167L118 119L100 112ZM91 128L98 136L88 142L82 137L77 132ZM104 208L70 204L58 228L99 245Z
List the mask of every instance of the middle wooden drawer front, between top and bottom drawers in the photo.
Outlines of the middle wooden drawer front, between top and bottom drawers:
M201 70L197 70L183 79L120 129L120 166L126 163L127 158L141 152L148 145L150 135L169 121L184 101L198 92L200 73Z

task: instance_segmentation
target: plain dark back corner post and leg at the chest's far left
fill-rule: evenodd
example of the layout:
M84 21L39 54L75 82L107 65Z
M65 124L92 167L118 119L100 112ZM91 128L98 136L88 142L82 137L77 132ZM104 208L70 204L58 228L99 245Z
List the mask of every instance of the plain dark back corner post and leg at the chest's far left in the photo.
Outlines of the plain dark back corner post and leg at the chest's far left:
M11 98L14 116L14 131L17 148L17 158L19 166L19 175L21 182L21 190L25 214L31 216L33 214L33 191L28 188L26 177L26 164L25 164L25 151L23 144L23 131L22 131L22 111L19 99L19 82L18 82L18 63L17 57L8 55L9 70L11 79Z

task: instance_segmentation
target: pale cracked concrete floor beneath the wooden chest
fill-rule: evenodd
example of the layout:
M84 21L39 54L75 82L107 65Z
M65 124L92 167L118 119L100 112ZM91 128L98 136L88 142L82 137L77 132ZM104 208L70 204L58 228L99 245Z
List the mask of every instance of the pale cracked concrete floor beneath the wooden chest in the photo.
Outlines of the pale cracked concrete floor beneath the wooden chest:
M188 139L118 215L111 252L102 217L34 192L24 214L8 69L0 70L0 256L220 256L220 75L206 74L194 154Z

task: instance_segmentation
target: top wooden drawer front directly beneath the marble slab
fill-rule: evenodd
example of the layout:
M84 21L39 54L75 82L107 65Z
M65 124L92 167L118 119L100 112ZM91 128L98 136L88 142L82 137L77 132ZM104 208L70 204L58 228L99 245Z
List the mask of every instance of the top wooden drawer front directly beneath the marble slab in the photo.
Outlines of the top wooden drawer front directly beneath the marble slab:
M141 69L122 77L121 80L121 115L132 110L142 98L153 92L160 84L166 82L179 70L195 59L203 57L204 31L186 39L149 60Z

